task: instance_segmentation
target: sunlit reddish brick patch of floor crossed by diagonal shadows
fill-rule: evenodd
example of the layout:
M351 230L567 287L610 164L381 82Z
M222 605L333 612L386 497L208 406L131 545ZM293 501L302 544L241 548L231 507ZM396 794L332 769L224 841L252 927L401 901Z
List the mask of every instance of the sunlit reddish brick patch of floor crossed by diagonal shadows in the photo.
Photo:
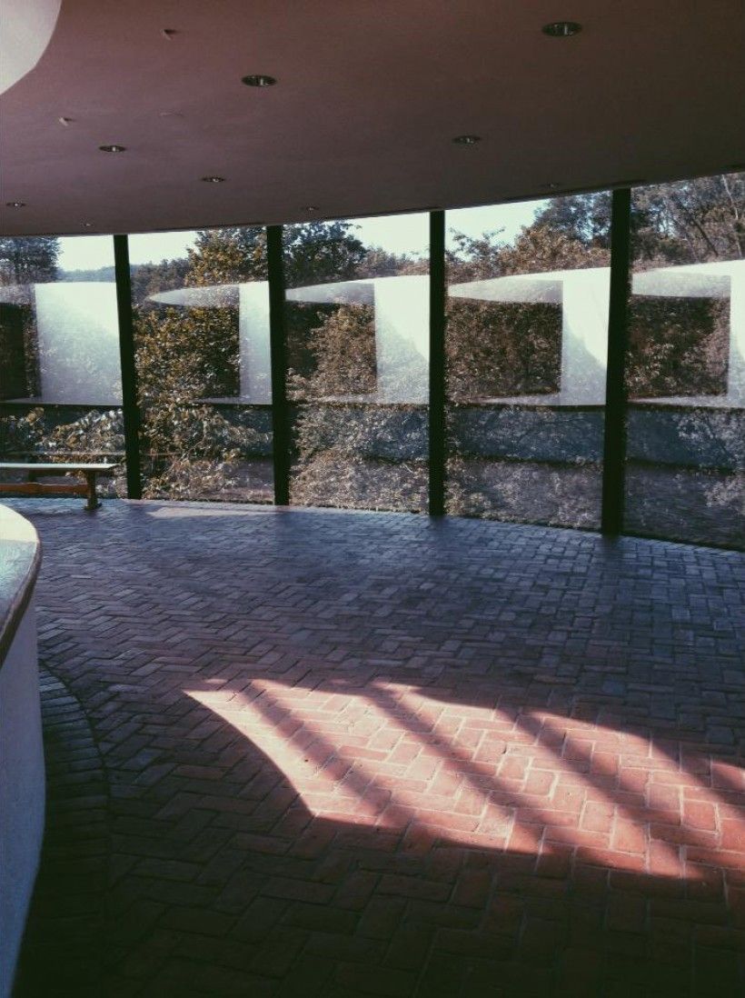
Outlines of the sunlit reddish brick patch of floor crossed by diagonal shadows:
M544 875L601 866L714 890L718 869L745 868L745 816L728 799L742 770L690 752L683 767L672 742L547 712L459 712L380 681L185 692L261 749L315 817L533 855Z

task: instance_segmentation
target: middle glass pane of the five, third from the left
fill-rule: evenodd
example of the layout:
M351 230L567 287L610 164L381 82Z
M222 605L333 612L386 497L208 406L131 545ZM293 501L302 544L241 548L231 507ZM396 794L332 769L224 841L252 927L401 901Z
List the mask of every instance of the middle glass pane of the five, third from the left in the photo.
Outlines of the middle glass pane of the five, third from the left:
M427 215L284 230L293 503L422 510Z

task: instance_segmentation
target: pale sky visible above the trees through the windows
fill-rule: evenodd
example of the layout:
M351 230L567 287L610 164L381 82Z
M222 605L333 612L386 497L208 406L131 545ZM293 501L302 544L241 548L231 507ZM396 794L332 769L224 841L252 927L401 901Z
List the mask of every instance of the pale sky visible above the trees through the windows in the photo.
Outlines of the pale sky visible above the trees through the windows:
M445 226L452 245L451 229L471 237L504 229L502 239L512 243L524 226L530 226L543 201L521 202L488 208L464 208L447 212ZM357 237L366 246L382 247L388 252L427 252L429 226L426 215L395 215L388 218L355 219ZM130 236L130 260L133 263L157 263L186 255L193 245L194 233L149 233ZM63 270L95 270L114 264L111 236L70 236L60 239L59 264Z

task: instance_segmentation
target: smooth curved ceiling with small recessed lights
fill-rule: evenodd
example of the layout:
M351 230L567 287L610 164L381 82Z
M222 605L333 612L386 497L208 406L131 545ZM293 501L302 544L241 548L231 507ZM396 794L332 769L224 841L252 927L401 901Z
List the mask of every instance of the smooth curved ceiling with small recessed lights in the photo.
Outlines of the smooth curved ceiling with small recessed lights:
M0 232L464 207L745 161L742 0L563 7L63 0L0 98ZM543 34L560 16L582 31Z

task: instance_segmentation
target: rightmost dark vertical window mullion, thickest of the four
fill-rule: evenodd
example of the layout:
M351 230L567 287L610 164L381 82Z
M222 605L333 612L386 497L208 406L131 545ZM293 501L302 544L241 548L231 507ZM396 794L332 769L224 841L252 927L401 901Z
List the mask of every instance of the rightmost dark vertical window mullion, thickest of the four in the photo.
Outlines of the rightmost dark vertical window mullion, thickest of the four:
M622 188L613 191L610 216L610 301L602 457L601 530L611 537L623 531L625 501L625 367L631 272L630 230L631 191Z

